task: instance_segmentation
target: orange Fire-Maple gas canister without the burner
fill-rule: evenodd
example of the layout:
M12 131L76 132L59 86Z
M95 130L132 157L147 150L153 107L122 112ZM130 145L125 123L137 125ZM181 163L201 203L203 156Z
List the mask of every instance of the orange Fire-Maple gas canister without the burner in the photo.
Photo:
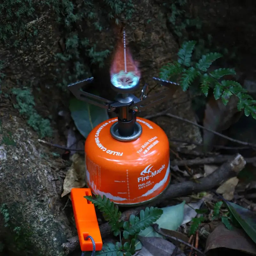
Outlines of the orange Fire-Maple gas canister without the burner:
M158 125L137 117L141 135L119 141L110 133L115 122L117 118L99 124L85 141L87 186L119 205L148 202L170 182L168 138Z

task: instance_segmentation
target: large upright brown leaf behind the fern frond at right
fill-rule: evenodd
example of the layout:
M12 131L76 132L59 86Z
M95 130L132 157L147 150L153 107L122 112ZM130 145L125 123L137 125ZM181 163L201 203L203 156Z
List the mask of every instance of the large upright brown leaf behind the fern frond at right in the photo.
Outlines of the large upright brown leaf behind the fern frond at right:
M243 114L237 109L238 98L231 96L227 105L225 106L221 99L215 100L212 95L208 100L205 111L203 125L205 128L216 132L222 132L234 124ZM210 151L213 142L215 142L216 135L206 130L203 131L204 149Z

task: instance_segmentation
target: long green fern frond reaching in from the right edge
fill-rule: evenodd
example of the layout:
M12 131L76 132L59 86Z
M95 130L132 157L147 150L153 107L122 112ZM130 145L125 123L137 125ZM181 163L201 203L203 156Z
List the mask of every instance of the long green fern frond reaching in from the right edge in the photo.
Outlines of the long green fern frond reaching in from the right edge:
M205 96L208 95L211 89L215 99L221 98L224 105L228 103L232 95L235 95L239 99L238 110L244 109L246 116L251 114L256 119L256 100L253 100L238 82L222 79L226 75L235 75L235 70L218 68L209 72L208 69L212 63L222 55L218 52L209 52L195 62L192 61L194 47L195 41L184 42L178 52L178 61L168 63L160 69L161 78L179 82L183 91L186 91L191 86L196 85L198 87L199 82L201 92Z

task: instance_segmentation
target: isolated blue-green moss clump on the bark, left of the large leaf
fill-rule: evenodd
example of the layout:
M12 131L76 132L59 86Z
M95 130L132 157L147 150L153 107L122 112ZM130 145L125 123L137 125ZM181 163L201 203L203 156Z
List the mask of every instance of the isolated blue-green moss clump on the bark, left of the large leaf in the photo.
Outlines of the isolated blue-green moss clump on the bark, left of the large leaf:
M35 101L31 91L24 87L13 88L12 93L16 95L17 104L14 108L19 109L21 115L28 118L28 125L38 132L41 138L52 136L52 128L49 119L42 118L35 109Z

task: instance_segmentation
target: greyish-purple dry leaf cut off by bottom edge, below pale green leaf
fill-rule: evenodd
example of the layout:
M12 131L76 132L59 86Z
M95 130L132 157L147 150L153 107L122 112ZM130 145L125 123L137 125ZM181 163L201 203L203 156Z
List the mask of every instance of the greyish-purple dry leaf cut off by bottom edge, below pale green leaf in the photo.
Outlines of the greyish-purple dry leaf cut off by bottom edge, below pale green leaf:
M164 240L160 237L139 237L143 246L153 255L153 256L170 256L176 248L171 242ZM177 256L186 256L183 252L178 249Z

